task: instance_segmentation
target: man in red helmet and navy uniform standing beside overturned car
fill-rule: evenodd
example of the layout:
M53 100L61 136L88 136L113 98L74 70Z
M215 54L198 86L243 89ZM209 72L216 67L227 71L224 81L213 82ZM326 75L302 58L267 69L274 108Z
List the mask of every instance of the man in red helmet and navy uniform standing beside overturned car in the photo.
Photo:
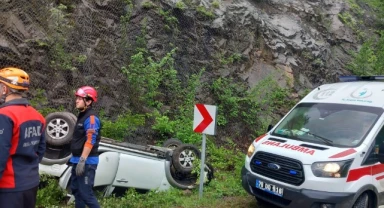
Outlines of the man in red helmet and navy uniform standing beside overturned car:
M75 207L98 208L93 193L95 171L99 163L98 147L101 122L92 109L97 102L97 91L90 86L80 87L76 93L76 108L80 111L71 142L72 164L71 189L75 196Z

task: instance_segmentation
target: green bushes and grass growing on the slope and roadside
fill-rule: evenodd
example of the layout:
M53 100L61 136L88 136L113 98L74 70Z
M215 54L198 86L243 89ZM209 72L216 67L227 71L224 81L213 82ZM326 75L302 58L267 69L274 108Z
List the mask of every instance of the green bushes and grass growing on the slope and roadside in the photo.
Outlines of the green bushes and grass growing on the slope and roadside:
M358 19L363 11L360 5L367 3L377 16L378 38L368 38L362 34L364 43L358 53L353 53L355 59L348 67L352 73L358 75L382 74L384 70L384 4L380 0L350 0L349 3L352 14L340 14L344 23L355 27L354 18ZM166 16L167 25L174 26L175 19L168 13L162 13L162 15ZM357 27L355 29L361 34L361 30L358 31ZM149 125L157 133L158 143L167 138L176 137L183 142L200 145L201 135L193 133L192 123L193 105L197 102L195 97L201 89L208 90L215 99L214 104L219 109L218 131L226 132L227 136L221 139L221 143L216 141L215 137L208 136L207 160L215 167L216 178L204 188L202 200L198 199L198 190L171 189L167 192L153 190L147 194L128 190L122 197L99 197L102 207L255 206L253 200L248 201L251 198L241 187L240 170L244 163L244 146L263 133L266 125L279 119L276 112L286 112L293 106L295 101L290 99L291 91L279 87L273 79L265 79L253 89L248 89L241 82L231 78L219 78L208 85L200 82L204 69L187 77L186 82L181 82L174 69L173 56L178 53L177 48L169 51L163 58L155 60L144 47L140 47L142 40L138 37L136 53L121 70L134 86L132 99L136 105L145 106L148 110L122 112L115 120L102 116L105 124L103 136L122 140L137 128ZM60 60L64 56L60 54L57 53L58 62L62 62ZM227 63L223 60L218 62ZM44 101L38 99L43 98L37 96L32 103ZM47 114L57 110L42 109L41 111ZM238 128L238 126L244 128ZM245 138L243 140L245 144L239 146L239 141L236 139L241 137ZM45 176L42 181L48 185L38 192L38 206L63 206L65 192L58 188L57 181Z

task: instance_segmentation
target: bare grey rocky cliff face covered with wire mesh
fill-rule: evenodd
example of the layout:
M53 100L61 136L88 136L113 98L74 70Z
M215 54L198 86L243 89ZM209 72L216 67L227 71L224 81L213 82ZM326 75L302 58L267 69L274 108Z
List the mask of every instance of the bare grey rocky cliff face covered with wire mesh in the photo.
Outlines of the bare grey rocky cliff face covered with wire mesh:
M1 0L0 66L30 72L42 106L72 110L76 87L98 86L108 115L132 108L121 68L140 44L155 58L177 47L181 80L206 68L203 82L253 87L272 75L300 93L348 74L348 51L360 44L340 21L347 10L343 0Z

